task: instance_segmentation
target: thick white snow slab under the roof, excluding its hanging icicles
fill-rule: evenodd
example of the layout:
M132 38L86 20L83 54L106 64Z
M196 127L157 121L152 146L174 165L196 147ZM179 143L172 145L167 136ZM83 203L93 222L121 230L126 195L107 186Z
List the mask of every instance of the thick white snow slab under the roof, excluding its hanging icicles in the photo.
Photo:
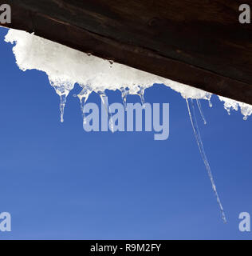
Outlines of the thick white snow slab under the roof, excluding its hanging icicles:
M75 83L89 86L93 91L129 89L137 94L154 83L165 84L179 92L183 98L210 98L211 94L158 77L116 62L109 62L67 46L40 38L21 30L9 30L6 42L14 43L16 62L21 70L44 71L58 94L67 94Z

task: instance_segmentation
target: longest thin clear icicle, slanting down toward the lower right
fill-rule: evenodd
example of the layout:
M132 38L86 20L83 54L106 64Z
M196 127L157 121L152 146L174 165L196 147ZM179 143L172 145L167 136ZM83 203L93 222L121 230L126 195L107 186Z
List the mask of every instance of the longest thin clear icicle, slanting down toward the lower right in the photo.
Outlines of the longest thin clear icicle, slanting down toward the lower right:
M216 190L216 186L215 186L215 181L214 181L214 178L213 178L213 175L211 174L211 167L209 165L209 162L207 160L207 155L205 153L205 150L204 150L204 147L203 147L203 142L201 140L201 137L200 137L200 133L199 133L199 127L198 127L198 123L197 123L197 119L195 117L195 106L194 106L194 102L193 100L190 98L190 101L188 102L188 100L186 99L187 101L187 108L188 108L188 113L189 113L189 116L190 116L190 119L191 119L191 126L194 130L194 134L195 134L195 138L196 138L196 141L197 141L197 144L199 146L199 151L200 151L200 154L203 158L203 162L206 166L206 169L207 169L207 174L211 180L211 185L212 185L212 188L215 192L215 196L217 198L217 202L219 204L219 208L221 210L221 214L222 214L222 220L223 222L226 223L226 216L225 216L225 213L224 213L224 210L223 210L223 207L222 207L222 203L219 199L219 194Z

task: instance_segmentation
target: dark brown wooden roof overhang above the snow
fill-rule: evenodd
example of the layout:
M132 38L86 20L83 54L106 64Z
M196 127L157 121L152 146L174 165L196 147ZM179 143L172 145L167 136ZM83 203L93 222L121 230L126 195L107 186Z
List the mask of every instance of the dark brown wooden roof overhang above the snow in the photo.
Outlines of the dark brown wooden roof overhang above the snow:
M252 104L252 25L238 22L243 1L2 3L12 8L7 26Z

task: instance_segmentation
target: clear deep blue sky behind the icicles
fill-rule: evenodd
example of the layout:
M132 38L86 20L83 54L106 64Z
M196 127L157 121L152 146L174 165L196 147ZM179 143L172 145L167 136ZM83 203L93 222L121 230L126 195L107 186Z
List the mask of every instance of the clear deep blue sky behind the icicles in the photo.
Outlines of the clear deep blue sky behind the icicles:
M226 212L223 224L195 142L186 102L166 86L146 102L170 103L170 136L82 128L73 94L60 122L59 97L46 74L23 72L0 29L0 212L12 231L0 239L251 239L238 214L252 214L252 118L229 116L217 97L203 101L199 129ZM119 91L108 101L121 102ZM91 94L89 102L100 104ZM129 96L128 102L140 102Z

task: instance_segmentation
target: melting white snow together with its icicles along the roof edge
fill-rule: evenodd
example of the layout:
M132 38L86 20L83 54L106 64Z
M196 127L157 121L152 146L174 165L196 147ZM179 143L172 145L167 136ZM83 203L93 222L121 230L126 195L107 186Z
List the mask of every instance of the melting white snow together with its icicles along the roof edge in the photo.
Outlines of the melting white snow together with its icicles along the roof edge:
M203 117L203 121L206 123L199 99L207 99L211 106L210 93L191 86L183 85L179 82L174 82L167 78L161 78L154 74L136 70L116 62L97 58L92 54L85 54L81 51L73 50L67 46L62 46L56 42L51 42L24 31L9 30L8 34L6 34L6 42L15 42L13 52L16 62L21 70L36 69L44 71L48 75L51 86L53 86L61 98L61 122L63 122L66 98L75 84L78 84L82 88L77 97L81 102L81 110L84 118L83 122L85 122L85 102L89 98L89 94L93 91L99 94L101 101L104 102L106 99L104 91L106 89L120 90L124 104L126 104L128 94L140 95L141 102L144 103L144 90L153 86L153 84L163 84L180 93L187 101L195 138L203 162L207 168L207 173L211 179L211 185L215 191L215 196L222 212L222 219L226 222L222 204L211 174L211 168L203 149L203 142L200 138L197 120L195 118L196 102L200 114ZM228 113L230 113L230 109L238 110L239 106L244 119L252 114L252 106L248 104L236 102L229 98L219 98L224 101L224 107ZM109 118L109 120L111 121L112 118ZM110 126L112 126L112 122L110 122Z

